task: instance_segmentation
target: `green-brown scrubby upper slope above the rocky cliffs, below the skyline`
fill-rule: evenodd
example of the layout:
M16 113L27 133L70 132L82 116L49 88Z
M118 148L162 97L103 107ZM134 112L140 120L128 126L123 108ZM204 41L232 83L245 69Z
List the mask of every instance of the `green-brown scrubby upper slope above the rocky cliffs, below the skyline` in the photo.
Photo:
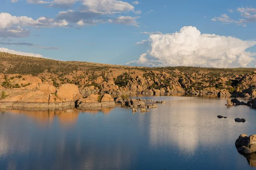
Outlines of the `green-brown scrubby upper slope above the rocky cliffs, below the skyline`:
M93 62L78 61L58 61L53 59L27 57L15 54L0 52L0 73L5 74L32 74L34 76L42 73L46 69L51 73L71 72L76 70L93 70L101 71L104 68L116 69L138 69L142 71L172 71L178 69L181 72L192 73L199 71L209 71L209 74L219 75L221 73L230 72L232 74L247 74L256 71L256 68L200 68L200 67L164 67L164 68L148 68L148 67L132 67L124 65L108 65Z

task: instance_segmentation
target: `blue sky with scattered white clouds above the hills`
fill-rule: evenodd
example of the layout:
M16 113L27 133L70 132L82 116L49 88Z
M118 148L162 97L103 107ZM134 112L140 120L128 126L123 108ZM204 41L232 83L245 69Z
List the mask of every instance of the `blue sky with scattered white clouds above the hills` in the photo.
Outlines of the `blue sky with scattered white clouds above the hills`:
M0 51L137 66L256 67L255 0L0 0Z

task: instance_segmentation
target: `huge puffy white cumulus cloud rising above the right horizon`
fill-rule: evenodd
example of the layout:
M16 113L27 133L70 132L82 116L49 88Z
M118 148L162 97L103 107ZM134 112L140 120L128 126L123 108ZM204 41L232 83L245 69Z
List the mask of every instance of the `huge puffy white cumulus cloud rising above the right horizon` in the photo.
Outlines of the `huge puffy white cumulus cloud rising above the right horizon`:
M256 54L245 52L256 41L235 37L201 34L192 26L172 34L151 34L151 48L128 64L151 66L248 67Z

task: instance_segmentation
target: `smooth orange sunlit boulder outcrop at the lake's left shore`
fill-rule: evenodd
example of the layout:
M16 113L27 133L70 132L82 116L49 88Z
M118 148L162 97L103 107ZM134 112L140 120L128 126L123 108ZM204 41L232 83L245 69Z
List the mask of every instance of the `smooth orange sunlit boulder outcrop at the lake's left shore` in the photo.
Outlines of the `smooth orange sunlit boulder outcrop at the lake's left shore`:
M82 96L73 84L61 85L56 89L52 85L38 84L34 90L6 91L9 96L0 100L7 106L23 108L51 108L74 106Z

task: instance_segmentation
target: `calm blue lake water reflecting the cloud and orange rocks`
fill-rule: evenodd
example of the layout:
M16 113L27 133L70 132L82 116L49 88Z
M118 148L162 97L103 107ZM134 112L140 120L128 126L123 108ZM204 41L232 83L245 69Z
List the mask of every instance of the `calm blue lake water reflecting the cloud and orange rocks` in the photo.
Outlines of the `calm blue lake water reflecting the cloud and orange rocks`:
M227 98L141 98L166 104L148 113L120 107L0 112L0 169L253 169L235 141L242 133L256 134L256 109L227 108ZM247 122L237 123L236 117Z

